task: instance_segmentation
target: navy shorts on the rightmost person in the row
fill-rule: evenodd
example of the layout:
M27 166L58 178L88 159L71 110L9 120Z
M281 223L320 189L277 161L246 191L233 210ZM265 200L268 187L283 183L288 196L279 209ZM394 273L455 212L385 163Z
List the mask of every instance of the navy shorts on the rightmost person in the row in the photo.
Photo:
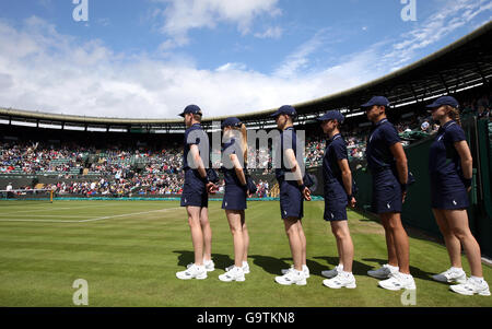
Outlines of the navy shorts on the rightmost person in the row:
M458 210L470 205L465 185L456 177L443 183L431 178L431 207L433 209Z

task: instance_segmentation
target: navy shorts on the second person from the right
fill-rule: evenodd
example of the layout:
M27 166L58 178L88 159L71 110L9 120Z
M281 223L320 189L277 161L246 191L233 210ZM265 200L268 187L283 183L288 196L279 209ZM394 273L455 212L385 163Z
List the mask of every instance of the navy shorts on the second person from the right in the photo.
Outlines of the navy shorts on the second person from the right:
M373 202L372 212L399 212L403 208L401 186L398 178L390 171L373 174Z

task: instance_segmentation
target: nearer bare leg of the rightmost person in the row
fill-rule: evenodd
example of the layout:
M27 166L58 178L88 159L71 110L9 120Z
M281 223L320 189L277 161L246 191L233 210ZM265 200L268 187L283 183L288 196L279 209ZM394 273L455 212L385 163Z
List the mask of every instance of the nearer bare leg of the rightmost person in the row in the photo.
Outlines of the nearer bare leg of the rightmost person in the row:
M471 268L471 275L482 278L480 246L471 234L466 210L443 210L450 231L461 242Z

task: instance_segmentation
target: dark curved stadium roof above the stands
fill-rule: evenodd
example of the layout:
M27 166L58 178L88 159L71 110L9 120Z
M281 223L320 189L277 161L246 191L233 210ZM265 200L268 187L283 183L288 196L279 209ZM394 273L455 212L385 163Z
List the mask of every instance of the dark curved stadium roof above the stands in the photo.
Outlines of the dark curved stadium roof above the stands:
M492 21L449 46L385 77L347 91L309 102L294 104L297 122L306 124L321 113L340 109L345 116L362 114L360 105L373 95L384 95L391 107L427 102L445 94L454 94L479 85L490 85L492 77ZM236 115L248 128L269 128L268 118L276 109ZM211 130L213 121L224 117L203 118L202 125ZM61 129L127 131L127 132L181 132L181 119L120 119L56 115L0 108L0 124L44 125Z

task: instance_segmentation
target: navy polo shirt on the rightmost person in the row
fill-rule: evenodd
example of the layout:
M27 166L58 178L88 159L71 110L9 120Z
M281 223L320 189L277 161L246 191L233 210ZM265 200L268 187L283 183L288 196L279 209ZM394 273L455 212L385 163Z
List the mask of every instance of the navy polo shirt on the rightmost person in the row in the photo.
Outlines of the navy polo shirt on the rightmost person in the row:
M465 131L454 120L440 128L430 149L429 172L431 178L462 176L461 162L454 143L466 140Z

